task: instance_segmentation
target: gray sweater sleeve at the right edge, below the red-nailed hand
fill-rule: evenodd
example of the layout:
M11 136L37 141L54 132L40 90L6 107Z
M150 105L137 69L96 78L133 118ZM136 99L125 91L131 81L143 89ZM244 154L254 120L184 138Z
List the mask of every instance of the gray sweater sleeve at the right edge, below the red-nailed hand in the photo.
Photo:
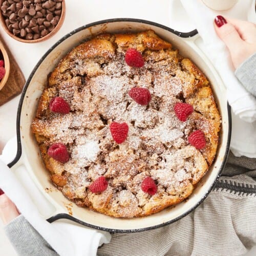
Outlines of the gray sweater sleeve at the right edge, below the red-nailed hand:
M256 53L246 59L234 72L245 89L256 97Z

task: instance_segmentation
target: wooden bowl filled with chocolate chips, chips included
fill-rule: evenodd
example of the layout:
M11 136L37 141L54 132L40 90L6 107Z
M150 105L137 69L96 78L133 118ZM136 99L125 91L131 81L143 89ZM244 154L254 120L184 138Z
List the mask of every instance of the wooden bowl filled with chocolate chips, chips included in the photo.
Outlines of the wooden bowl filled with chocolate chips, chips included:
M39 42L53 36L66 14L64 0L0 0L0 23L12 38Z

